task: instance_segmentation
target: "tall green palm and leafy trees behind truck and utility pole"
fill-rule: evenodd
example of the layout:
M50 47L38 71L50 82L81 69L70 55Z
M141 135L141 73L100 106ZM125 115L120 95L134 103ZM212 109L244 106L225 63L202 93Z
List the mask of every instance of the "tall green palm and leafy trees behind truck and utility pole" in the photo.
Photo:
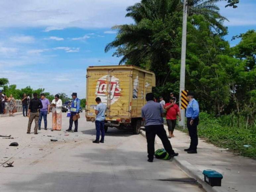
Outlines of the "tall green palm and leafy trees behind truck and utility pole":
M240 43L230 47L224 38L226 18L214 4L218 1L188 0L185 89L195 92L202 111L216 117L244 116L251 125L255 119L256 32L238 35ZM227 2L233 6L239 1ZM117 36L105 48L116 48L113 56L121 57L120 64L155 72L154 93L166 100L170 91L179 95L182 6L179 0L141 0L128 7L126 17L134 23L114 26Z

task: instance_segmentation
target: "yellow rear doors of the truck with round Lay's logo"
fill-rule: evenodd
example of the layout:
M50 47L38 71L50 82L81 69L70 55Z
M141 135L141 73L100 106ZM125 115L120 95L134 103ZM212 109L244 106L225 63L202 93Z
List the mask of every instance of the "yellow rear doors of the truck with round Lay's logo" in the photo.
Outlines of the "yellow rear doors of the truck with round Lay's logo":
M129 117L129 93L131 70L88 70L86 116L94 117L95 98L107 105L107 117Z

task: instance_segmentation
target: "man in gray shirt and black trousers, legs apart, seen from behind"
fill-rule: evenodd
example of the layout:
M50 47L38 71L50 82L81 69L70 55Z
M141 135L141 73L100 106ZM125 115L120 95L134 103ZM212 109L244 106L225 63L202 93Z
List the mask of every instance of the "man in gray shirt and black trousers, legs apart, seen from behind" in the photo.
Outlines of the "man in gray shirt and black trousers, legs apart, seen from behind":
M164 109L160 103L154 102L154 94L146 94L147 104L141 109L141 115L145 121L145 130L148 148L148 162L153 162L155 154L155 137L156 135L161 139L166 152L170 157L178 156L175 153L172 145L167 137L163 125Z

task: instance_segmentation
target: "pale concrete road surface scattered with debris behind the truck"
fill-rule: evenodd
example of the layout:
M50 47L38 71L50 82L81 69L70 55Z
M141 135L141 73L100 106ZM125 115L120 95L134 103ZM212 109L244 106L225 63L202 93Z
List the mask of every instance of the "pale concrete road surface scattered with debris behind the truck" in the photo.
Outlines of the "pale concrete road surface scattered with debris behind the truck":
M104 144L93 144L94 124L84 118L78 133L41 130L38 135L26 134L27 120L0 118L0 134L14 137L0 138L0 165L14 161L12 168L0 167L0 191L203 191L172 162L148 163L141 135L111 128ZM63 130L68 120L63 117ZM19 146L8 146L11 142Z

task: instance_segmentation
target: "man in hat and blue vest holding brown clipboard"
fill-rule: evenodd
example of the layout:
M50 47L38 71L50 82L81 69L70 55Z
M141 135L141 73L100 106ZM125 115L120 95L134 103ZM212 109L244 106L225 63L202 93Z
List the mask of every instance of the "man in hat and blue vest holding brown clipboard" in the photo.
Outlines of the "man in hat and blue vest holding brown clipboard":
M73 121L75 122L74 132L77 132L78 129L78 119L79 116L79 108L80 108L80 99L77 98L77 93L72 93L73 101L71 103L71 116L69 119L69 128L66 131L72 131Z

